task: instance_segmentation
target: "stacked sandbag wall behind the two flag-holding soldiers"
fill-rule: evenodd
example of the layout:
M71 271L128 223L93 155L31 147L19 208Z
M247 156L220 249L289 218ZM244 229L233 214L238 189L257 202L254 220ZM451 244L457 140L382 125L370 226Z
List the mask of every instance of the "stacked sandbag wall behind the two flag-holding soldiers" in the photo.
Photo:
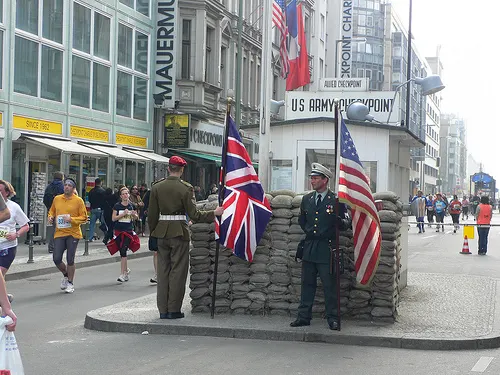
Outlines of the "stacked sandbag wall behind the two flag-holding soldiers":
M354 272L352 231L340 234L345 272L340 281L341 312L355 319L394 321L399 301L399 242L402 205L393 193L380 193L384 210L382 254L370 289L358 288ZM300 301L301 264L295 253L304 233L298 224L302 194L288 190L267 194L273 216L248 263L221 246L219 252L216 312L235 314L295 316ZM198 202L211 210L216 196ZM215 264L214 224L191 226L190 297L193 313L209 312ZM313 314L324 315L324 294L318 279Z

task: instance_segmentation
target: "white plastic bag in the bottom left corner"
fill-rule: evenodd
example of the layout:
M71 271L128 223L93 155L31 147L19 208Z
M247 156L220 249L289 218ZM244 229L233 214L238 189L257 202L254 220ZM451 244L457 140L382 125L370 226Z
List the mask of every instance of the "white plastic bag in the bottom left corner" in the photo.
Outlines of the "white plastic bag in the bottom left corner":
M0 374L24 375L16 336L14 332L9 332L5 328L12 323L10 316L0 317ZM10 373L5 370L9 370Z

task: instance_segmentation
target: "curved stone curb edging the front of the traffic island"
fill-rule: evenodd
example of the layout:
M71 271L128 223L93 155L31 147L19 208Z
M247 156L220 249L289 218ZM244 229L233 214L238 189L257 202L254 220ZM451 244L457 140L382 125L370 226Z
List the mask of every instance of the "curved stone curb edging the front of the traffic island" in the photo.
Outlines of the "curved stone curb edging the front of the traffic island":
M472 339L412 338L404 336L332 335L302 330L277 331L255 328L203 327L159 323L119 322L97 318L87 313L84 327L102 332L162 334L173 336L209 336L234 339L294 341L335 345L376 346L417 350L480 350L500 347L500 336Z

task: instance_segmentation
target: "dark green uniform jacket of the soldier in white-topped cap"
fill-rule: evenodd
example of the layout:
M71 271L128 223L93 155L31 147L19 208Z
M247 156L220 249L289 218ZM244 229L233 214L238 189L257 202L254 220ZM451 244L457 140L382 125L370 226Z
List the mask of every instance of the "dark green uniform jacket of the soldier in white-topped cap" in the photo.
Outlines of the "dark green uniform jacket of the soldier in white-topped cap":
M330 263L330 252L335 247L335 194L328 190L325 199L316 206L315 192L302 197L299 224L306 234L302 260L312 263ZM345 219L347 208L339 203L340 218ZM343 226L342 220L339 225ZM344 229L341 227L341 229Z

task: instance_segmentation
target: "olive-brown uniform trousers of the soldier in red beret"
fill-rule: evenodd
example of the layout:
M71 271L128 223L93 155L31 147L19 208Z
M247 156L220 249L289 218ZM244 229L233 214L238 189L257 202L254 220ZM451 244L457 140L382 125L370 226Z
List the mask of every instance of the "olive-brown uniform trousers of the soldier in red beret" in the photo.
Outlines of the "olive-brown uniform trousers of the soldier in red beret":
M189 241L158 238L156 303L160 314L181 311L188 270Z

